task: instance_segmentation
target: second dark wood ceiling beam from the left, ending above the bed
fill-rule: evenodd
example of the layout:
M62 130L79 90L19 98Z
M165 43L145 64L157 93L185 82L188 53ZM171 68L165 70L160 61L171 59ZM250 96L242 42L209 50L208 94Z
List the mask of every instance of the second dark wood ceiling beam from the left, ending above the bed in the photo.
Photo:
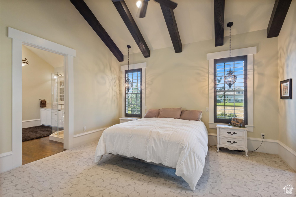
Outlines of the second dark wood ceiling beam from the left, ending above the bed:
M126 6L126 2L124 1L112 1L115 8L117 9L118 13L120 14L123 22L126 24L126 27L130 31L133 39L136 41L139 49L141 50L144 57L150 57L150 50L135 22L133 19L131 12L129 11L128 7Z

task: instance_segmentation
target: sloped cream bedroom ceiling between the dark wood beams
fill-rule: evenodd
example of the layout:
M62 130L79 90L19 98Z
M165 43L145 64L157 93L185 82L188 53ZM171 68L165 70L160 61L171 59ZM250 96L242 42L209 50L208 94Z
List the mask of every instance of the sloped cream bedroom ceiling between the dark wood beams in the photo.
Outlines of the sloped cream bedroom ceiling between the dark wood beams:
M178 3L174 14L182 44L214 38L213 0L173 0ZM131 45L130 53L141 52L111 0L85 0L101 25L110 35L123 54L126 45ZM146 17L136 17L137 0L125 0L150 51L173 46L170 40L160 5L151 0ZM234 22L231 34L267 29L275 0L226 0L224 36L229 35L226 24Z

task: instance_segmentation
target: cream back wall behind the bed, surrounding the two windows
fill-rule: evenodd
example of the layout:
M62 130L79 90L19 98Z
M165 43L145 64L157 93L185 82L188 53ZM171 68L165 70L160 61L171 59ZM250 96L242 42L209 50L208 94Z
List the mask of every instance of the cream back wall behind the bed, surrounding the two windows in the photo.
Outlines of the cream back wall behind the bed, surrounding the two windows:
M266 30L231 36L231 48L257 46L254 55L254 132L249 137L278 139L278 39L266 38ZM229 50L229 37L224 37L224 46L215 47L214 40L183 45L182 53L173 47L157 49L150 58L141 53L130 55L130 64L147 62L146 105L147 109L182 107L203 111L202 121L209 133L207 53ZM124 58L127 59L126 56ZM120 62L126 65L127 61ZM121 109L121 108L120 108ZM146 110L147 111L147 110Z

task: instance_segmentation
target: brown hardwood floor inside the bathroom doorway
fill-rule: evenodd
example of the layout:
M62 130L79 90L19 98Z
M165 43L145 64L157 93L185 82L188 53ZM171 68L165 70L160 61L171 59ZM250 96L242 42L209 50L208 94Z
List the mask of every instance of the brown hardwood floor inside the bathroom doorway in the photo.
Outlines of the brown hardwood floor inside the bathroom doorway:
M22 142L22 165L65 151L64 144L49 136Z

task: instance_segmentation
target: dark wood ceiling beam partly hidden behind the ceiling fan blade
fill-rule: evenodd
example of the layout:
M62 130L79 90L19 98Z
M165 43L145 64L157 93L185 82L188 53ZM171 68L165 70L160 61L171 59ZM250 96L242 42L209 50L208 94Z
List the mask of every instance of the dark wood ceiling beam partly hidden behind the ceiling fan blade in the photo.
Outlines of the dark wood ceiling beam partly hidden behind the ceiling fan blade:
M159 1L157 1L159 2ZM170 39L172 40L174 49L176 53L182 52L182 42L179 35L177 22L174 14L174 10L160 3L161 11L163 12L163 17L165 18L165 23L168 27L168 33L170 34Z

